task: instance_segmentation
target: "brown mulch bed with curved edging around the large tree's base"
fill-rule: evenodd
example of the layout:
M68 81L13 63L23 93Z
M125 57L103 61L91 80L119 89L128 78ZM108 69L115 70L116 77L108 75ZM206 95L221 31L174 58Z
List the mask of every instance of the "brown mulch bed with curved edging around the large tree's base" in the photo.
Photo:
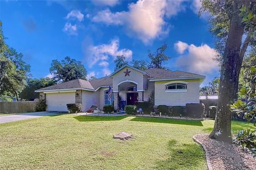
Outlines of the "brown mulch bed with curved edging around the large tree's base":
M241 147L219 142L208 137L209 134L196 134L193 139L203 146L209 169L255 169L256 159L252 153Z

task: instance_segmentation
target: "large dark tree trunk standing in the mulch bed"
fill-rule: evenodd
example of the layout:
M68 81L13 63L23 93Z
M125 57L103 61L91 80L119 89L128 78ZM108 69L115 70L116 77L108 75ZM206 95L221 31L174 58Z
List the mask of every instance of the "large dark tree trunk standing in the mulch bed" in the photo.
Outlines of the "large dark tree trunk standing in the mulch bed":
M220 87L218 95L217 114L210 138L231 142L231 112L229 104L234 99L234 91L239 75L239 54L242 45L244 27L242 18L238 16L237 2L233 2L233 13L226 48L220 71ZM241 67L241 66L240 66Z

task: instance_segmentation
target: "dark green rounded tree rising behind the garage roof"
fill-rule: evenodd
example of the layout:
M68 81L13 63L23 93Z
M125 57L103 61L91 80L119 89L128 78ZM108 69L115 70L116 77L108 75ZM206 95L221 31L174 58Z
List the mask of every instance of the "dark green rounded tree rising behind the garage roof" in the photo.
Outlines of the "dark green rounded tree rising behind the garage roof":
M50 73L57 82L66 82L75 79L86 80L87 71L81 61L76 61L69 56L64 60L53 60Z

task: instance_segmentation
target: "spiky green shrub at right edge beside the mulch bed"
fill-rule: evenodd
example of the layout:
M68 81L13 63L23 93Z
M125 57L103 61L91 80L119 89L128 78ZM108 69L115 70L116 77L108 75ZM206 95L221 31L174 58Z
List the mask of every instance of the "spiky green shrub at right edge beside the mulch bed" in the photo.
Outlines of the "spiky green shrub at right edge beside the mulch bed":
M254 156L256 156L256 131L251 129L245 129L239 131L234 138L236 145L241 145L245 151L252 150Z

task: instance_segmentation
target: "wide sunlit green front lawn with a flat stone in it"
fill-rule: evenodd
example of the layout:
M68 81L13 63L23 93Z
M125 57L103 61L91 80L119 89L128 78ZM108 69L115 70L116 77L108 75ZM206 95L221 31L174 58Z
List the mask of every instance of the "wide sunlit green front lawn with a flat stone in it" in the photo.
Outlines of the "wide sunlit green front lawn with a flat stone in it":
M4 123L0 169L207 169L192 137L214 121L198 122L59 115ZM234 130L246 126L233 122ZM113 139L122 131L134 138Z

